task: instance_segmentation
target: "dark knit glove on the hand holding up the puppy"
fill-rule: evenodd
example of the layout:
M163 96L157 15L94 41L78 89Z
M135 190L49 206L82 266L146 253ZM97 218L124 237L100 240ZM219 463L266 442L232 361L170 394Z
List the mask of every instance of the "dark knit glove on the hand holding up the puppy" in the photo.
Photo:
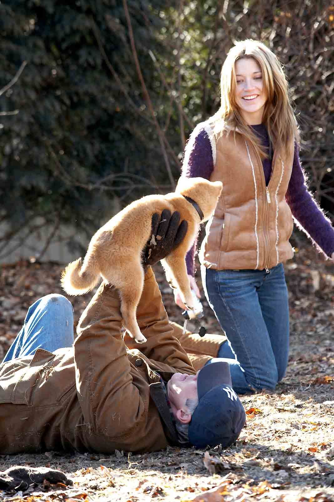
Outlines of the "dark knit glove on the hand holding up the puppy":
M180 242L182 242L188 229L186 220L180 223L180 213L164 209L161 216L154 213L152 216L152 232L143 249L143 266L155 265L165 258Z

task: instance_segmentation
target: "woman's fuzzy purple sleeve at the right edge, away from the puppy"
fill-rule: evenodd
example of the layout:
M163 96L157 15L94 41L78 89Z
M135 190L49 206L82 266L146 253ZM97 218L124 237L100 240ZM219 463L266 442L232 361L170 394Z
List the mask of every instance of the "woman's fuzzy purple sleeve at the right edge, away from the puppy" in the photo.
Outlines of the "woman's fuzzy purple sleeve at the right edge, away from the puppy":
M285 197L297 226L319 250L331 257L334 252L334 228L307 190L297 145L294 148L292 173Z

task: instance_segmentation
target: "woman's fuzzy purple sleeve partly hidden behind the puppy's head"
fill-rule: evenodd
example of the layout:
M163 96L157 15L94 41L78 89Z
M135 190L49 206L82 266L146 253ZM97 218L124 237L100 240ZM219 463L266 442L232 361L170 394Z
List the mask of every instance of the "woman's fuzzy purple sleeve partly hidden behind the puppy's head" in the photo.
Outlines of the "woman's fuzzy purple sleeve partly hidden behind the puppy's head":
M205 129L197 129L191 134L184 151L181 176L207 180L213 171L213 156L210 139ZM193 276L195 271L195 253L197 237L186 255L187 272Z

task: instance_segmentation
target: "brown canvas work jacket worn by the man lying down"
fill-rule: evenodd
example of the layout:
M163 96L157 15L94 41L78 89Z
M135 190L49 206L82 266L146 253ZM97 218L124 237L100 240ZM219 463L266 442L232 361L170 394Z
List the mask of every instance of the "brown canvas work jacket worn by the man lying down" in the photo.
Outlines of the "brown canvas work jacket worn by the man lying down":
M0 453L144 452L176 444L156 371L168 381L195 369L173 335L150 268L137 318L147 342L129 350L118 292L102 284L73 348L38 349L0 365Z

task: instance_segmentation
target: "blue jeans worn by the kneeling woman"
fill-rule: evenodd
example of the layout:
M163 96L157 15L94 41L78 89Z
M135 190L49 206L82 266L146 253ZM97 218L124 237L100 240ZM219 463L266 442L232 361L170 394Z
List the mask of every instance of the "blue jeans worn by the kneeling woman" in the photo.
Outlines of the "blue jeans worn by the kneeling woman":
M231 365L235 392L275 389L285 373L289 347L288 293L282 264L265 270L201 267L205 296L227 341L218 357Z

